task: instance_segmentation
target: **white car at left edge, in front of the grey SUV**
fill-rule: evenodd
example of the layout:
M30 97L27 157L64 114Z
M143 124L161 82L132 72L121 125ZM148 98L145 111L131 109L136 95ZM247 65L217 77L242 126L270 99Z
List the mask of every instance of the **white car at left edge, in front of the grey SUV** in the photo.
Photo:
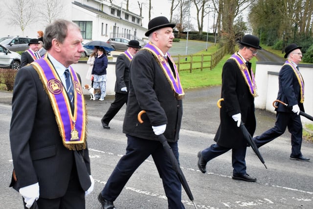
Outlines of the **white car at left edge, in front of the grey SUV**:
M0 45L0 68L20 70L21 55Z

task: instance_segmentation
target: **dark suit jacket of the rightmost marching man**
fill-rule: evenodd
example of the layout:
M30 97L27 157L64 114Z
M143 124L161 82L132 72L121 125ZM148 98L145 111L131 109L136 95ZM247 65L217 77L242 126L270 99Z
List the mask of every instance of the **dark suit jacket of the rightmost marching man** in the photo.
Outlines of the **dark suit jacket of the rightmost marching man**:
M301 92L300 92L300 84L298 82L297 76L289 65L284 65L282 69L279 71L279 89L277 94L277 99L285 102L289 106L298 105L300 110L304 112L303 103L300 103L301 100ZM281 103L277 104L276 111L277 112L288 112L291 113L286 106Z

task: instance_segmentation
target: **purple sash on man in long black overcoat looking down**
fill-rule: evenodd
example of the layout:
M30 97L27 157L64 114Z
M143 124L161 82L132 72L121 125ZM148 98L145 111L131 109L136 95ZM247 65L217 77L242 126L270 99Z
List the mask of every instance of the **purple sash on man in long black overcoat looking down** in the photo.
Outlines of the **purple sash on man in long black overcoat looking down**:
M249 90L252 96L253 97L259 96L257 93L257 86L254 80L254 74L253 74L252 68L250 69L250 74L251 74L251 77L250 77L248 68L246 67L246 63L237 53L234 53L229 59L236 61L238 68L240 69L242 75L244 76L244 79L246 81L246 84L249 87Z

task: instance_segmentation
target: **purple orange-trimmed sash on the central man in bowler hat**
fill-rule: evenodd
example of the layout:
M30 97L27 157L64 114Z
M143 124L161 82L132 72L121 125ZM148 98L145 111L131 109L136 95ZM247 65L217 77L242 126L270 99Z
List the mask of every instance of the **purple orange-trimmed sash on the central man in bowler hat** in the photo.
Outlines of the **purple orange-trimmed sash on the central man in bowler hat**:
M156 46L154 46L151 42L149 42L142 49L149 50L156 57L156 61L159 63L159 66L161 67L167 80L169 81L169 83L172 87L172 90L174 91L175 97L177 99L182 99L183 96L185 95L185 93L181 87L180 79L179 79L179 73L178 73L177 67L176 67L175 62L172 59L171 55L169 53L167 53L168 58L173 63L175 75L173 74L173 70L171 69L169 63L166 62L164 57L161 55L160 50Z

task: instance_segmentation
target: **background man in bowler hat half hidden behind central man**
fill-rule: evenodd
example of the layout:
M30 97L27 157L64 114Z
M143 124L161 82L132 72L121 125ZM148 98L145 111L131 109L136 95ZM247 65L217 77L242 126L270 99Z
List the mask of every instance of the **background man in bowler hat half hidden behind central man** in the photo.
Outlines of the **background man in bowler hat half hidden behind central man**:
M128 49L118 55L115 65L115 99L111 104L107 113L102 117L101 123L104 129L110 129L109 123L118 111L127 104L129 91L129 64L133 56L139 51L141 46L136 40L131 40L128 43Z

